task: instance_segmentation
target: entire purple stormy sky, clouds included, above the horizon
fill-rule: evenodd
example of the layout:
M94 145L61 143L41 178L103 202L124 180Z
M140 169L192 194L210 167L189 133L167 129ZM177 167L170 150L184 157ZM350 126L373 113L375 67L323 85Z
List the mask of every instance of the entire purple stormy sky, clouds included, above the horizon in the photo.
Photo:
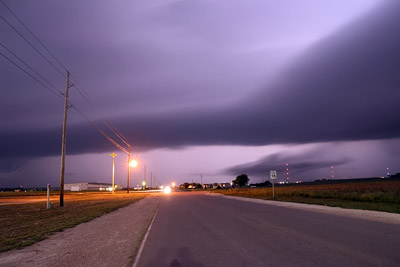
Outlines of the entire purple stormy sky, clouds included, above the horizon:
M170 181L400 172L400 2L3 2L84 88L71 103ZM0 2L0 52L64 91L57 64ZM6 22L7 21L7 22ZM63 101L0 55L0 187L59 185ZM36 74L33 74L37 77ZM126 183L127 156L69 110L65 182ZM122 144L122 142L120 142Z

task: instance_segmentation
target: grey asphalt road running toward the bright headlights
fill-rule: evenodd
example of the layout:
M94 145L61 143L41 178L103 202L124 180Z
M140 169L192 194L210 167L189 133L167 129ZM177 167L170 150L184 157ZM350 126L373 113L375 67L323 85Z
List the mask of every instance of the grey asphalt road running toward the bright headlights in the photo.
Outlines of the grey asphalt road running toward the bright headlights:
M400 266L400 226L210 196L162 198L137 266Z

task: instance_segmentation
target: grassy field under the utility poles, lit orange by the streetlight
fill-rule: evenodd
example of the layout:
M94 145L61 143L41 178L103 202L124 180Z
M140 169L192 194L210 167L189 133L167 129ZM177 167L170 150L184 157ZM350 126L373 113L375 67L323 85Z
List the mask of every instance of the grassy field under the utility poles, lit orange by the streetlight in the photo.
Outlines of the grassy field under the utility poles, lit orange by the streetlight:
M22 248L143 198L143 193L65 193L59 207L52 193L52 209L46 209L46 192L0 192L0 252Z

